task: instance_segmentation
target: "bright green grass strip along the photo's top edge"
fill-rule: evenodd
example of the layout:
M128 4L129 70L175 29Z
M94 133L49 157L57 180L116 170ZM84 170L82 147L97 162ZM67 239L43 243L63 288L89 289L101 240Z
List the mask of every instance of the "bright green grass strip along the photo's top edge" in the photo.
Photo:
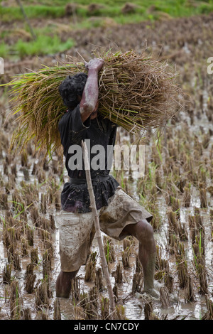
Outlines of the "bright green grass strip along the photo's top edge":
M65 16L65 6L70 4L67 0L40 0L38 4L33 1L22 1L24 9L29 19L31 18L60 18ZM129 13L122 14L122 8L127 1L103 1L103 0L77 0L74 1L76 6L75 15L79 18L89 16L108 16L115 18L118 23L131 23L144 21L146 19L158 19L159 13L163 12L172 17L192 16L196 14L209 14L213 11L213 0L193 1L189 0L144 0L129 1L135 4L136 8ZM102 5L94 11L89 11L89 4ZM152 7L152 10L150 10ZM18 6L0 7L1 21L23 20L21 9Z

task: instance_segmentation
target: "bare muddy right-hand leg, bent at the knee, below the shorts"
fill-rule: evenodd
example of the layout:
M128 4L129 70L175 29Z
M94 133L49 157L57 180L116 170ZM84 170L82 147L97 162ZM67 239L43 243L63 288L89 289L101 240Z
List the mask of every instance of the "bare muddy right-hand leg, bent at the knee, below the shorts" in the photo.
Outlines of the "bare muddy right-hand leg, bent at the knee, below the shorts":
M156 247L153 227L147 220L140 220L137 224L127 225L124 230L139 241L138 257L143 267L144 292L158 297L154 290Z

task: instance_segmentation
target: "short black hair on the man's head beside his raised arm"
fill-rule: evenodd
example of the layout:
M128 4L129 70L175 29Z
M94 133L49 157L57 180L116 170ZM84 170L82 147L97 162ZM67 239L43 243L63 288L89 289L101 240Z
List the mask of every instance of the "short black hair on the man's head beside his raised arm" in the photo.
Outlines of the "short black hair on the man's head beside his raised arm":
M58 90L66 107L77 107L77 104L79 104L78 96L82 96L86 81L87 75L85 73L77 73L73 76L68 75L62 81Z

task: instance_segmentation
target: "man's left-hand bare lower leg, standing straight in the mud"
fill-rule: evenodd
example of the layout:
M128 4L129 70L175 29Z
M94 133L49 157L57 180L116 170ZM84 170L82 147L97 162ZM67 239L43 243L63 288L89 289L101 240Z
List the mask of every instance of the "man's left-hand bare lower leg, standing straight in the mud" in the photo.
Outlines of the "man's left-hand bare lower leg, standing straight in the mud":
M71 291L71 279L74 279L77 271L60 271L56 280L56 297L69 298Z

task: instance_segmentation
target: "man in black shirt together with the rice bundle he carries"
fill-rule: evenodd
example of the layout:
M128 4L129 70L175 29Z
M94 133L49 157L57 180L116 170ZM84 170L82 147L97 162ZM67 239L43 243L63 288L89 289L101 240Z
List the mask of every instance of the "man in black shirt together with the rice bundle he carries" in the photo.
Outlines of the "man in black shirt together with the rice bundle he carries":
M152 215L121 189L109 174L109 162L118 126L141 139L148 130L164 128L180 111L178 73L146 50L115 54L109 50L95 57L89 63L71 58L52 68L44 66L37 72L15 75L6 84L12 86L11 114L18 116L10 150L21 152L33 141L36 153L44 158L51 159L54 153L65 156L70 182L61 194L57 296L69 296L70 279L85 264L95 232L83 159L79 159L82 141L90 145L92 186L102 231L114 239L128 235L138 239L144 291L156 296ZM102 148L102 168L97 168L97 163L92 166L97 147ZM109 147L108 155L105 151Z

